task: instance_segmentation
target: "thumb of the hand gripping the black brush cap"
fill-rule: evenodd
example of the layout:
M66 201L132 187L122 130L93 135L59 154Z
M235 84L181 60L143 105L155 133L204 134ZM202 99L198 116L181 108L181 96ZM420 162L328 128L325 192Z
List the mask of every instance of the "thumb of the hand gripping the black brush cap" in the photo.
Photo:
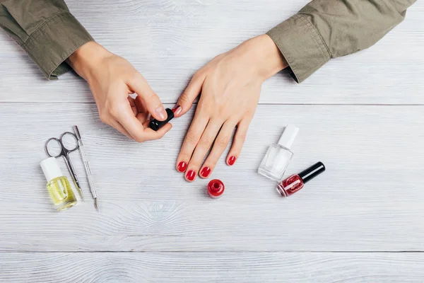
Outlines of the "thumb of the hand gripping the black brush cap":
M129 81L129 87L134 93L137 93L138 96L144 101L146 105L146 110L159 121L164 121L167 118L167 112L163 107L162 102L160 102L159 96L153 91L153 89L148 85L146 79L139 74L135 79Z

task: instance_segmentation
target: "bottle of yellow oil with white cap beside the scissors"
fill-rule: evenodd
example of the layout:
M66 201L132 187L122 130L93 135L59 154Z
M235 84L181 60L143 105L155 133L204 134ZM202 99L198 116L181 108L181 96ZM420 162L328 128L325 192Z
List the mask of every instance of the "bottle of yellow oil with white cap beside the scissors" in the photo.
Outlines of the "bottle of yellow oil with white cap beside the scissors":
M47 190L56 209L61 211L73 207L77 203L75 194L68 178L61 173L56 158L47 158L40 163L40 166L47 179Z

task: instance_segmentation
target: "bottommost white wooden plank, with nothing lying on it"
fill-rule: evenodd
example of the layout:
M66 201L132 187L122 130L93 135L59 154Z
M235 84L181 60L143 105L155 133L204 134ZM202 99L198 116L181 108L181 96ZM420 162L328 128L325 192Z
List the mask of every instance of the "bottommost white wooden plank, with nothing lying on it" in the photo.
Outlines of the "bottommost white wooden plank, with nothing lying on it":
M0 282L423 282L421 253L0 253Z

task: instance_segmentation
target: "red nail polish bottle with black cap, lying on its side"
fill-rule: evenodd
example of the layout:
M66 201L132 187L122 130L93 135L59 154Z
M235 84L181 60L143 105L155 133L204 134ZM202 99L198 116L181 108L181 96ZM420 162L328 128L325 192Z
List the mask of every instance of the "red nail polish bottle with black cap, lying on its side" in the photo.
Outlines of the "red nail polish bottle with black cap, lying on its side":
M325 171L325 166L322 162L315 163L310 168L300 172L298 175L291 175L290 177L282 180L277 185L277 190L283 197L293 195L298 190L302 189L303 185L309 180L317 177Z

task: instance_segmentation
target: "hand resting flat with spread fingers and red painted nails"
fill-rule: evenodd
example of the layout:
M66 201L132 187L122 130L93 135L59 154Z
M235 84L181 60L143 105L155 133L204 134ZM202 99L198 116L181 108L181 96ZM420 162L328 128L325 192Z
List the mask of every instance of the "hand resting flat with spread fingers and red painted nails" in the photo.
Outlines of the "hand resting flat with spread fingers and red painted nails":
M176 164L187 181L192 182L198 173L201 178L211 175L237 126L226 158L229 166L235 163L257 108L261 84L285 67L271 37L260 35L218 55L194 74L175 110L175 117L184 115L201 93Z

